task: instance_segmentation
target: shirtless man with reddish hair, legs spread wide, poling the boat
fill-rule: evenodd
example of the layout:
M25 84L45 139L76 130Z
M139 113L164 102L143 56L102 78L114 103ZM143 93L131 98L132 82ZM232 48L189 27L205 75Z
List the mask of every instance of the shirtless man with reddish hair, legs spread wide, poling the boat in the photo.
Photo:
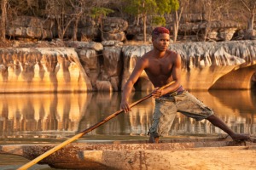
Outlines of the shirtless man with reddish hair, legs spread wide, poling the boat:
M153 49L137 61L128 81L125 83L120 108L131 111L128 98L137 79L143 71L154 85L152 92L155 108L152 127L149 128L149 142L158 143L159 137L169 132L177 111L200 121L207 119L221 128L234 140L249 139L249 134L235 133L213 111L195 96L185 91L181 85L181 57L168 49L170 32L165 27L157 27L152 32ZM170 82L173 82L172 84ZM161 89L166 84L170 86Z

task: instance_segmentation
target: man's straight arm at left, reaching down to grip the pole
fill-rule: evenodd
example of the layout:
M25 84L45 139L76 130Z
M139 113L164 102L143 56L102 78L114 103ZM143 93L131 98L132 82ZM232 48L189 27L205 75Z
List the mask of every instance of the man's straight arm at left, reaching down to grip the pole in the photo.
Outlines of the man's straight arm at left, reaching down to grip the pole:
M140 77L143 70L145 69L145 65L145 61L143 59L139 59L134 67L134 70L131 73L131 76L125 83L120 104L120 109L124 110L125 112L131 111L131 108L129 106L131 90L133 88L134 83L137 82L137 79Z

